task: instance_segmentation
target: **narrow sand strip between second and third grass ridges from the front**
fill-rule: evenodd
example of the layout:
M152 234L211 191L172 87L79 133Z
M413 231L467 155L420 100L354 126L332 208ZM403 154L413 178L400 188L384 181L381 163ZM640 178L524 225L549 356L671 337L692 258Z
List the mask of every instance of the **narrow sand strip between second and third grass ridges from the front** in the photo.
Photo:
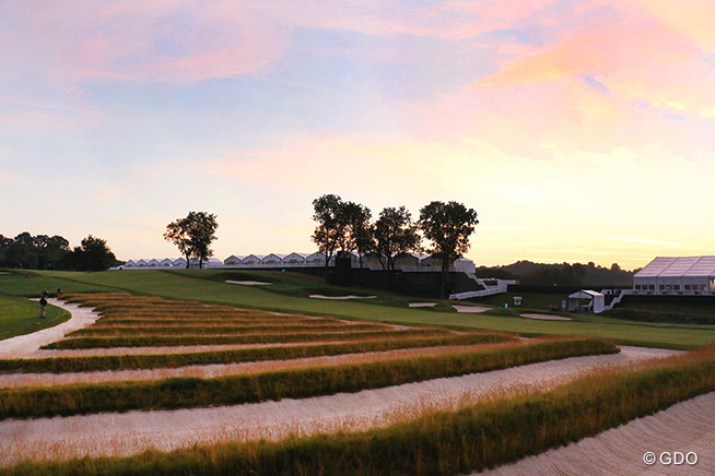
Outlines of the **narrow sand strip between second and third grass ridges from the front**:
M386 359L410 359L433 357L455 352L478 352L489 347L508 347L513 342L503 344L473 344L459 346L413 347L394 350L377 350L360 354L340 354L335 356L305 357L284 360L259 360L237 364L210 364L177 368L102 370L91 372L67 373L8 373L0 374L0 389L30 385L62 385L69 383L99 383L138 380L157 380L172 377L214 378L226 376L246 376L267 371L306 369L310 367L331 367L345 364L367 364Z

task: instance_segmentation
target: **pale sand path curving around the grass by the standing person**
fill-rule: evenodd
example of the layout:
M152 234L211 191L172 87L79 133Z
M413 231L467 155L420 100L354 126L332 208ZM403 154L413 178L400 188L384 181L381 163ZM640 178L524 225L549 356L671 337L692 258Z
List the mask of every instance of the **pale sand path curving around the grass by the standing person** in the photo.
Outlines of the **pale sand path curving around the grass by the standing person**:
M79 305L62 302L55 298L47 299L47 302L69 311L72 317L69 321L54 328L0 341L0 358L31 356L39 350L39 347L61 341L66 334L86 328L99 319L99 314L90 308L81 308Z

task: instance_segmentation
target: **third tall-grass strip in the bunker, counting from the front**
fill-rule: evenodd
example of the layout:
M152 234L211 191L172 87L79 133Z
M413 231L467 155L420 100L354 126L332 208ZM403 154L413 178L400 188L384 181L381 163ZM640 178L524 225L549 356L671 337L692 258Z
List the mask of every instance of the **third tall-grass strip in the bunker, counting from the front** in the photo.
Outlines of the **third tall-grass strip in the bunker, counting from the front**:
M304 345L296 347L245 348L168 355L122 355L86 357L50 357L34 359L0 359L0 373L17 372L86 372L96 370L127 370L177 368L211 364L235 364L258 360L288 360L366 352L395 350L453 345L494 344L513 341L504 334L466 334L406 340L371 340L360 343Z

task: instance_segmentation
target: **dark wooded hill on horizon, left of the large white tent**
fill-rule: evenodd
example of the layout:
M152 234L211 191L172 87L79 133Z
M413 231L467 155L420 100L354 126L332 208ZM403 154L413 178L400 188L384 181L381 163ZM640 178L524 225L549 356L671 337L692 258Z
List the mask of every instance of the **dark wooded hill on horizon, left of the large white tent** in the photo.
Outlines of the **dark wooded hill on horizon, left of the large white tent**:
M631 286L634 271L622 270L617 263L611 267L582 263L535 263L517 261L503 266L479 266L478 277L499 277L517 279L520 284L535 286L573 286L573 287L621 287Z

